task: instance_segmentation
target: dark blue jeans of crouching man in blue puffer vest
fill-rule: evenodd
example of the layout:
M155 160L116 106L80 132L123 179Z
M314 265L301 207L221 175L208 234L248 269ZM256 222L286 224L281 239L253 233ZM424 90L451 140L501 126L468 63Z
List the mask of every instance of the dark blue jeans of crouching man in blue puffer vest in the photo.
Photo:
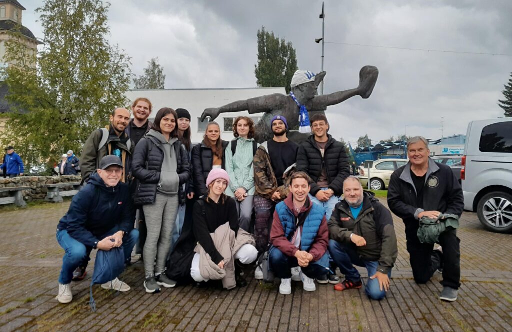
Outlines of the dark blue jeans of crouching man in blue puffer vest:
M272 247L269 252L268 262L270 270L274 273L274 276L281 279L291 278L290 269L298 267L297 258L287 256L275 247ZM305 268L301 267L301 270L302 273L312 279L326 274L326 269L318 264L309 264Z

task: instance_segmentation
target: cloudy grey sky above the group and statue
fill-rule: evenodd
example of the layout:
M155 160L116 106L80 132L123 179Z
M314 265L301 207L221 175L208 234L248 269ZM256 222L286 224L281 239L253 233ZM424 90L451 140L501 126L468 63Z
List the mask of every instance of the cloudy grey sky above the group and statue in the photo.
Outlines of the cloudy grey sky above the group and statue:
M34 9L19 0L23 24L42 39ZM291 41L300 69L321 70L322 1L112 0L111 34L142 74L158 57L166 88L254 87L256 33ZM330 106L330 133L355 142L404 134L436 139L465 134L471 120L503 115L497 105L512 72L510 0L328 0L325 2L324 93L357 86L359 69L379 69L372 96ZM343 43L343 44L340 44ZM220 105L212 105L220 106Z

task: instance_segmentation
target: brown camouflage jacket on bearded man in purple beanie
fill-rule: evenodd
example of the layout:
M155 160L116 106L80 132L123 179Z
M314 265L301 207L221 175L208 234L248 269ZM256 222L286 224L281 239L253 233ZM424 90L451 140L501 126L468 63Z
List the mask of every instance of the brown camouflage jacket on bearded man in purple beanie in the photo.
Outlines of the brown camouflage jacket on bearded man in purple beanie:
M267 152L267 142L263 142L256 150L252 167L254 168L254 188L256 195L270 200L272 194L278 190L281 195L281 200L286 198L290 192L286 185L287 181L283 181L284 184L278 187L278 180L275 178L274 170L270 163L270 156Z

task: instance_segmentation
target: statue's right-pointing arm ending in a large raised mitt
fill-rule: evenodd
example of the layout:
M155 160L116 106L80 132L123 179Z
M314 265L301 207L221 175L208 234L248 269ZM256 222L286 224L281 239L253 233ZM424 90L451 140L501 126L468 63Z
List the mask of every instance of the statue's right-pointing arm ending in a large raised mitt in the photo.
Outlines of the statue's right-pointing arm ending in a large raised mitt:
M326 106L339 104L354 96L368 98L372 94L379 71L373 65L365 65L359 71L359 85L356 88L345 91L338 91L328 95L316 96L313 99L312 109L325 109Z

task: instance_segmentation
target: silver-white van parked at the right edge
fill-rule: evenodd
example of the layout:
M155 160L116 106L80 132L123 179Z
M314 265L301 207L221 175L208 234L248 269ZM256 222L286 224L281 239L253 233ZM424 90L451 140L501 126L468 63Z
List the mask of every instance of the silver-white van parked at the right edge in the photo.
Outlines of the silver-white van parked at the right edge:
M512 118L471 121L464 154L464 209L491 231L512 230Z

